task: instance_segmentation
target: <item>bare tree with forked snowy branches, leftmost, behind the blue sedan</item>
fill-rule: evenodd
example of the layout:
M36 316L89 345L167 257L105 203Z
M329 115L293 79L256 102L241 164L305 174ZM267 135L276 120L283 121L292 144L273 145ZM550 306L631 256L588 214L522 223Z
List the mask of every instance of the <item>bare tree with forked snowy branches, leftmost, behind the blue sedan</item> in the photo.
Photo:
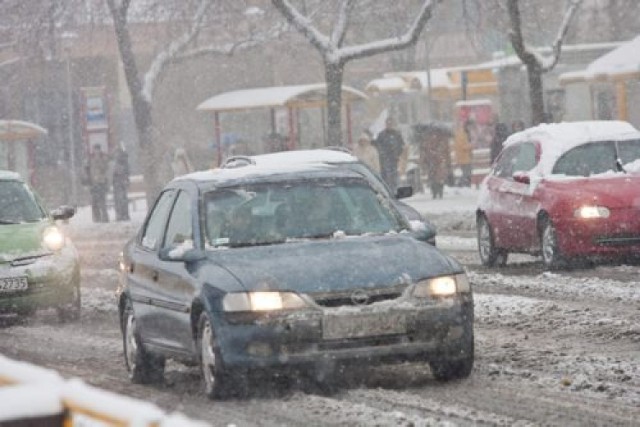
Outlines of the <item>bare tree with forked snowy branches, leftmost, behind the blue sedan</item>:
M242 40L228 43L214 41L198 45L198 36L208 24L208 18L214 4L223 4L216 0L198 0L191 16L182 18L187 25L151 60L151 65L141 74L130 34L128 20L131 0L107 0L113 19L114 31L118 42L127 86L131 95L133 116L138 135L139 146L144 150L142 167L147 190L147 201L151 203L160 191L158 182L158 153L153 144L153 102L158 83L170 65L203 55L231 55L240 48L247 48L277 36L282 26L276 26L263 33L251 33Z

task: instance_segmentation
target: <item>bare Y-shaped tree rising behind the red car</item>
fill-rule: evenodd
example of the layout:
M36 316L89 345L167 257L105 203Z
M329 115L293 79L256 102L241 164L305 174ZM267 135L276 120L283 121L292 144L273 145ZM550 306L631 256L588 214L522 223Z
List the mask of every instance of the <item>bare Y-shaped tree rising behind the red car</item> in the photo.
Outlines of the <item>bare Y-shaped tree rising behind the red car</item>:
M567 35L569 24L582 0L571 0L567 8L558 33L552 44L552 53L549 57L542 57L524 40L522 31L522 17L520 14L520 0L507 0L507 11L511 29L509 37L518 58L527 68L529 80L529 97L531 102L531 124L536 125L545 120L544 92L542 87L542 75L551 71L556 66L562 52L562 43Z

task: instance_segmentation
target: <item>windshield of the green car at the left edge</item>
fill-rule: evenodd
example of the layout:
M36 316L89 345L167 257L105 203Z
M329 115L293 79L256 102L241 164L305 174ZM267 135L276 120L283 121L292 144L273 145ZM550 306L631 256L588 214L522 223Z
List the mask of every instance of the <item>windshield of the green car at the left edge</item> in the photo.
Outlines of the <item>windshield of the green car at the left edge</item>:
M44 212L22 182L0 181L0 225L40 221Z

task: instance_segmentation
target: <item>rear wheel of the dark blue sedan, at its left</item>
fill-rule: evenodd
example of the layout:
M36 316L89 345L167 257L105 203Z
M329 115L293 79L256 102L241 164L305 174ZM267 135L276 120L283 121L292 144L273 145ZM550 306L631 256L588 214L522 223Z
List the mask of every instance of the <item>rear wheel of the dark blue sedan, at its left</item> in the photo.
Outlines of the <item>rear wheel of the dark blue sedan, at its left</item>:
M124 361L129 379L135 384L159 383L164 379L165 359L147 352L136 330L136 317L127 300L122 312Z

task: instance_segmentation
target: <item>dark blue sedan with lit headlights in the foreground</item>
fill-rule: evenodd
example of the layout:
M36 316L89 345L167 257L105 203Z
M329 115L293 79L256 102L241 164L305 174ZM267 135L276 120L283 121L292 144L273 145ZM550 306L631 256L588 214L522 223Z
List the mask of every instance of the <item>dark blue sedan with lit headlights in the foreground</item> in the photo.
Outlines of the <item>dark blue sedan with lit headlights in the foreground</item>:
M121 260L129 375L161 380L166 358L199 364L210 397L256 369L417 360L439 380L466 377L471 286L421 232L344 168L177 178Z

